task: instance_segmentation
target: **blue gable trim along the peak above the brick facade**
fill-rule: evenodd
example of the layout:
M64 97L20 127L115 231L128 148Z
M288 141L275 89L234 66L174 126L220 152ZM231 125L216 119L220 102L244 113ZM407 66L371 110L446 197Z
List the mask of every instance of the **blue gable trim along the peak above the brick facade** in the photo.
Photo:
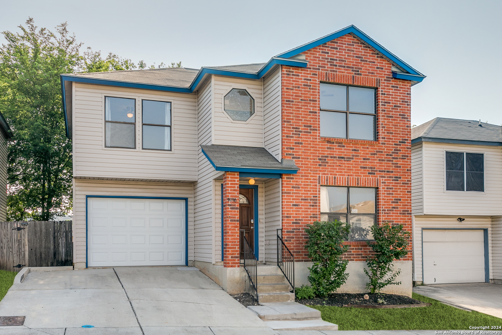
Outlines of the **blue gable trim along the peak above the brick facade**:
M364 34L362 31L360 31L354 25L350 25L350 26L343 28L341 30L338 30L332 34L326 35L324 37L321 37L317 40L314 40L314 41L309 42L307 44L304 44L302 46L299 46L297 48L286 51L282 54L277 55L277 57L283 57L283 58L293 57L295 55L298 55L299 53L310 50L310 49L315 48L321 44L332 41L338 37L341 37L341 36L347 35L347 34L354 34L355 36L357 36L358 38L363 40L366 44L368 44L370 47L372 47L376 51L380 52L381 54L383 54L384 56L389 58L392 62L396 63L397 65L399 65L400 67L402 67L406 71L410 72L411 74L424 76L422 73L418 72L413 67L411 67L410 65L408 65L404 61L402 61L399 57L394 55L392 52L390 52L389 50L384 48L382 45L380 45L379 43L374 41L371 37ZM411 79L411 80L416 80L416 79Z

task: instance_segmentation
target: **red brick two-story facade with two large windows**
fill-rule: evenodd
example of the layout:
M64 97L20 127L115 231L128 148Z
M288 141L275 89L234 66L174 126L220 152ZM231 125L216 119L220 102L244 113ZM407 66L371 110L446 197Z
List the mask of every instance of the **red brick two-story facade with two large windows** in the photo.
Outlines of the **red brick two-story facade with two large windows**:
M411 223L411 82L392 77L392 63L345 35L303 52L306 68L282 66L282 155L296 175L283 175L283 236L298 261L307 224L320 219L320 186L378 187L378 222ZM321 138L319 82L376 88L376 141ZM364 261L365 242L350 242L346 258ZM410 253L407 258L411 260Z

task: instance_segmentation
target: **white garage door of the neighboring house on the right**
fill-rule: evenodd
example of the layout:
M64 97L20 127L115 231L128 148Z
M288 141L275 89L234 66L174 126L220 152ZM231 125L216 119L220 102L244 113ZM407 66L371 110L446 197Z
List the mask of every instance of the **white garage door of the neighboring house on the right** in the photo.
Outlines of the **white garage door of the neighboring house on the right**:
M424 284L484 282L483 230L423 230Z

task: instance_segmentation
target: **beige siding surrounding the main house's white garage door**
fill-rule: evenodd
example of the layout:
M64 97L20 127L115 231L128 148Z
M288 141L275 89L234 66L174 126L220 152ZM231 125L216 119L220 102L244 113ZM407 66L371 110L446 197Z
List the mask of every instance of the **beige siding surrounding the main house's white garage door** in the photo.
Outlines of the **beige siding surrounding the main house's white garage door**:
M86 195L188 198L188 260L193 260L193 184L115 180L73 180L73 259L85 262Z

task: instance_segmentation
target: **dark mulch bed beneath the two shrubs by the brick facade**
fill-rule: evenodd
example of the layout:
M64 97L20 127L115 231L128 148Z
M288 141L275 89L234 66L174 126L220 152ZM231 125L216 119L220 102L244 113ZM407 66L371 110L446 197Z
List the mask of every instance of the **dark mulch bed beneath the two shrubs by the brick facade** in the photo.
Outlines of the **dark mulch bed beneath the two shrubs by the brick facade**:
M369 299L364 299L364 294L369 296ZM379 302L380 300L380 302ZM382 301L383 300L383 301ZM320 305L320 306L338 306L344 305L408 305L408 304L423 304L424 302L404 295L385 294L385 293L331 293L327 297L319 297L313 299L295 299L304 305Z

